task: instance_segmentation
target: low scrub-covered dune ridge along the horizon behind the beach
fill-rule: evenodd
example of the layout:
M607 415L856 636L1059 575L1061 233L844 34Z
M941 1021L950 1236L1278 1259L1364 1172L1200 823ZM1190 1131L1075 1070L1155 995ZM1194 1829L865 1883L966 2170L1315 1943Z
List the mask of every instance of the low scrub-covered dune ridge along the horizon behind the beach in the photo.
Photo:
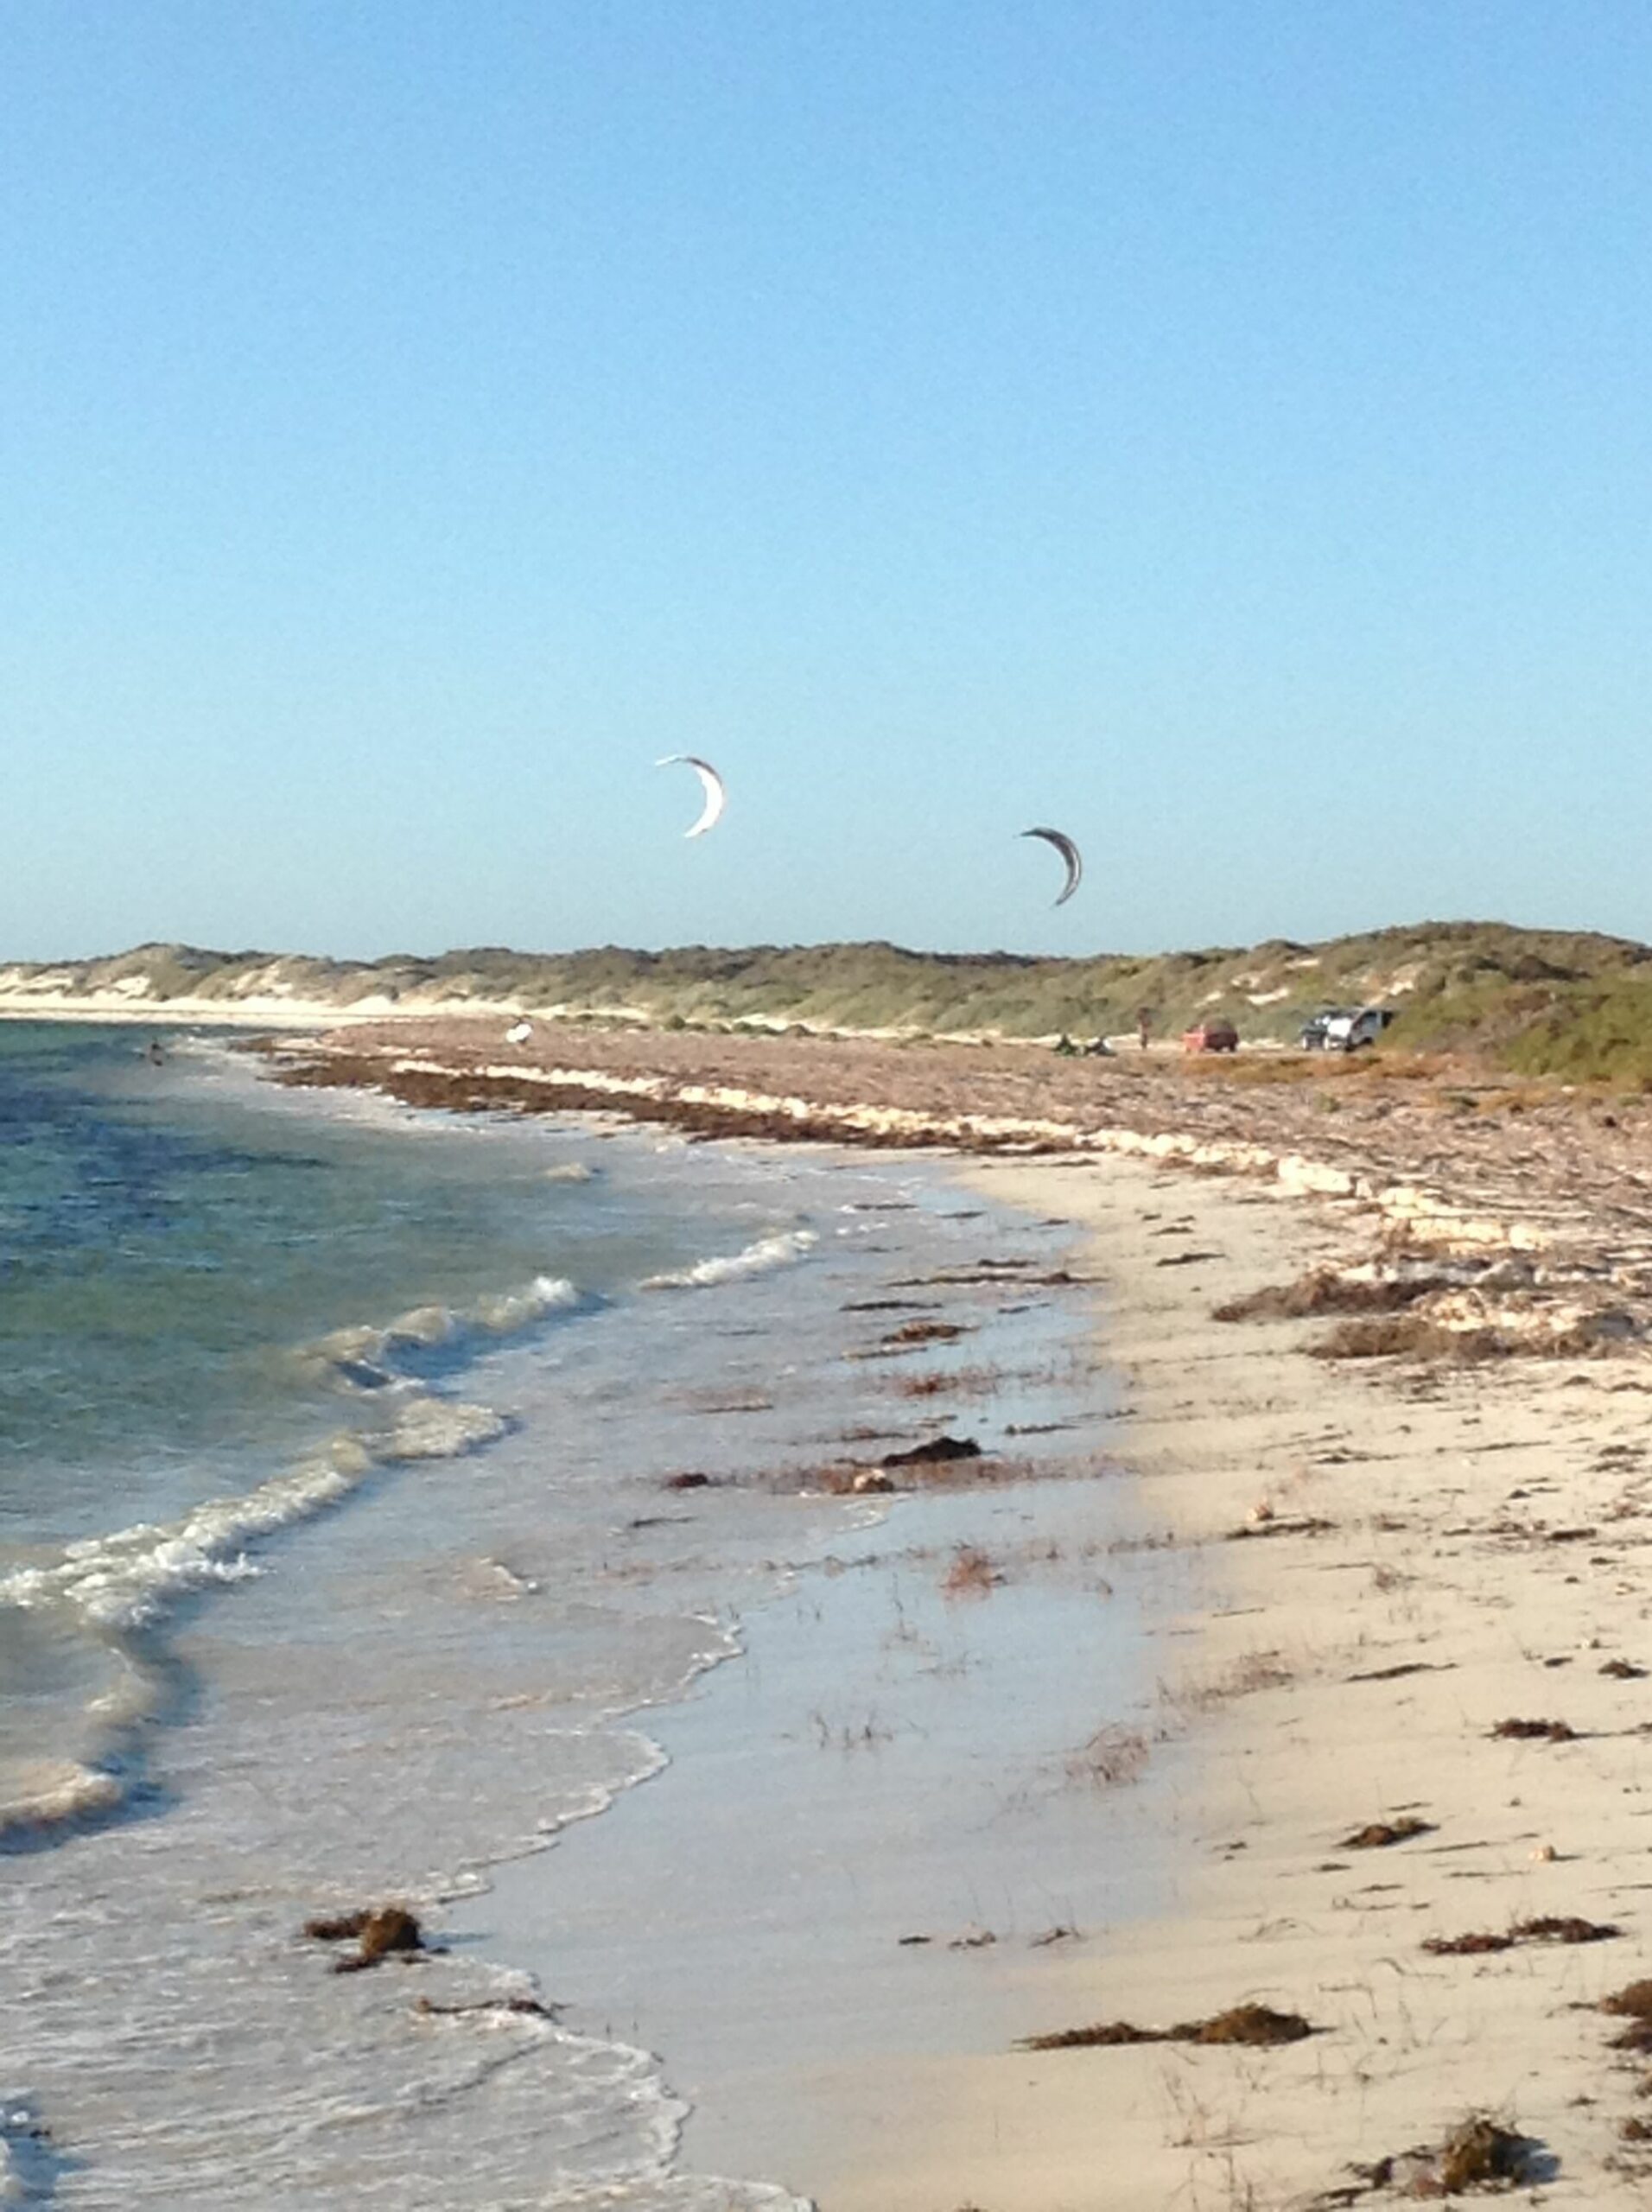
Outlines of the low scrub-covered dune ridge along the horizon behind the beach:
M495 947L327 960L139 945L97 960L0 967L0 1013L316 1022L529 1013L670 1029L869 1035L1168 1035L1227 1015L1292 1042L1325 1004L1389 1004L1400 1048L1482 1051L1522 1073L1652 1077L1652 947L1592 931L1418 922L1296 945L1274 938L1088 960L920 953L898 945L690 945L517 953Z

